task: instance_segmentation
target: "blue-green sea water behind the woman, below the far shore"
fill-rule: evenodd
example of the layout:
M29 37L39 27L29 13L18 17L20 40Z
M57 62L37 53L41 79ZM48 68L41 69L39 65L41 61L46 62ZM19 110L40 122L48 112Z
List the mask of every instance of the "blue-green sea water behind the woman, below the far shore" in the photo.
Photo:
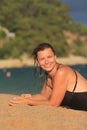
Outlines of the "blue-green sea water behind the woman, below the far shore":
M79 71L87 79L87 64L70 67ZM11 73L11 77L6 76L7 72ZM34 67L0 69L0 93L2 94L35 94L40 92L43 82L44 76L39 77Z

